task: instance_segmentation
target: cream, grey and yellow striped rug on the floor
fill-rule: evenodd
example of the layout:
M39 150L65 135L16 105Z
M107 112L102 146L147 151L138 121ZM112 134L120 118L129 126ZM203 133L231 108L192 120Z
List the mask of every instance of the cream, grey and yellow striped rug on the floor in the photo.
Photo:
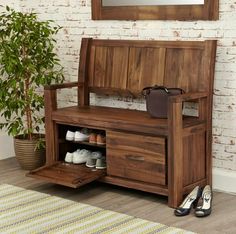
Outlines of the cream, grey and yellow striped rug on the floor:
M0 185L0 233L192 233L59 197Z

